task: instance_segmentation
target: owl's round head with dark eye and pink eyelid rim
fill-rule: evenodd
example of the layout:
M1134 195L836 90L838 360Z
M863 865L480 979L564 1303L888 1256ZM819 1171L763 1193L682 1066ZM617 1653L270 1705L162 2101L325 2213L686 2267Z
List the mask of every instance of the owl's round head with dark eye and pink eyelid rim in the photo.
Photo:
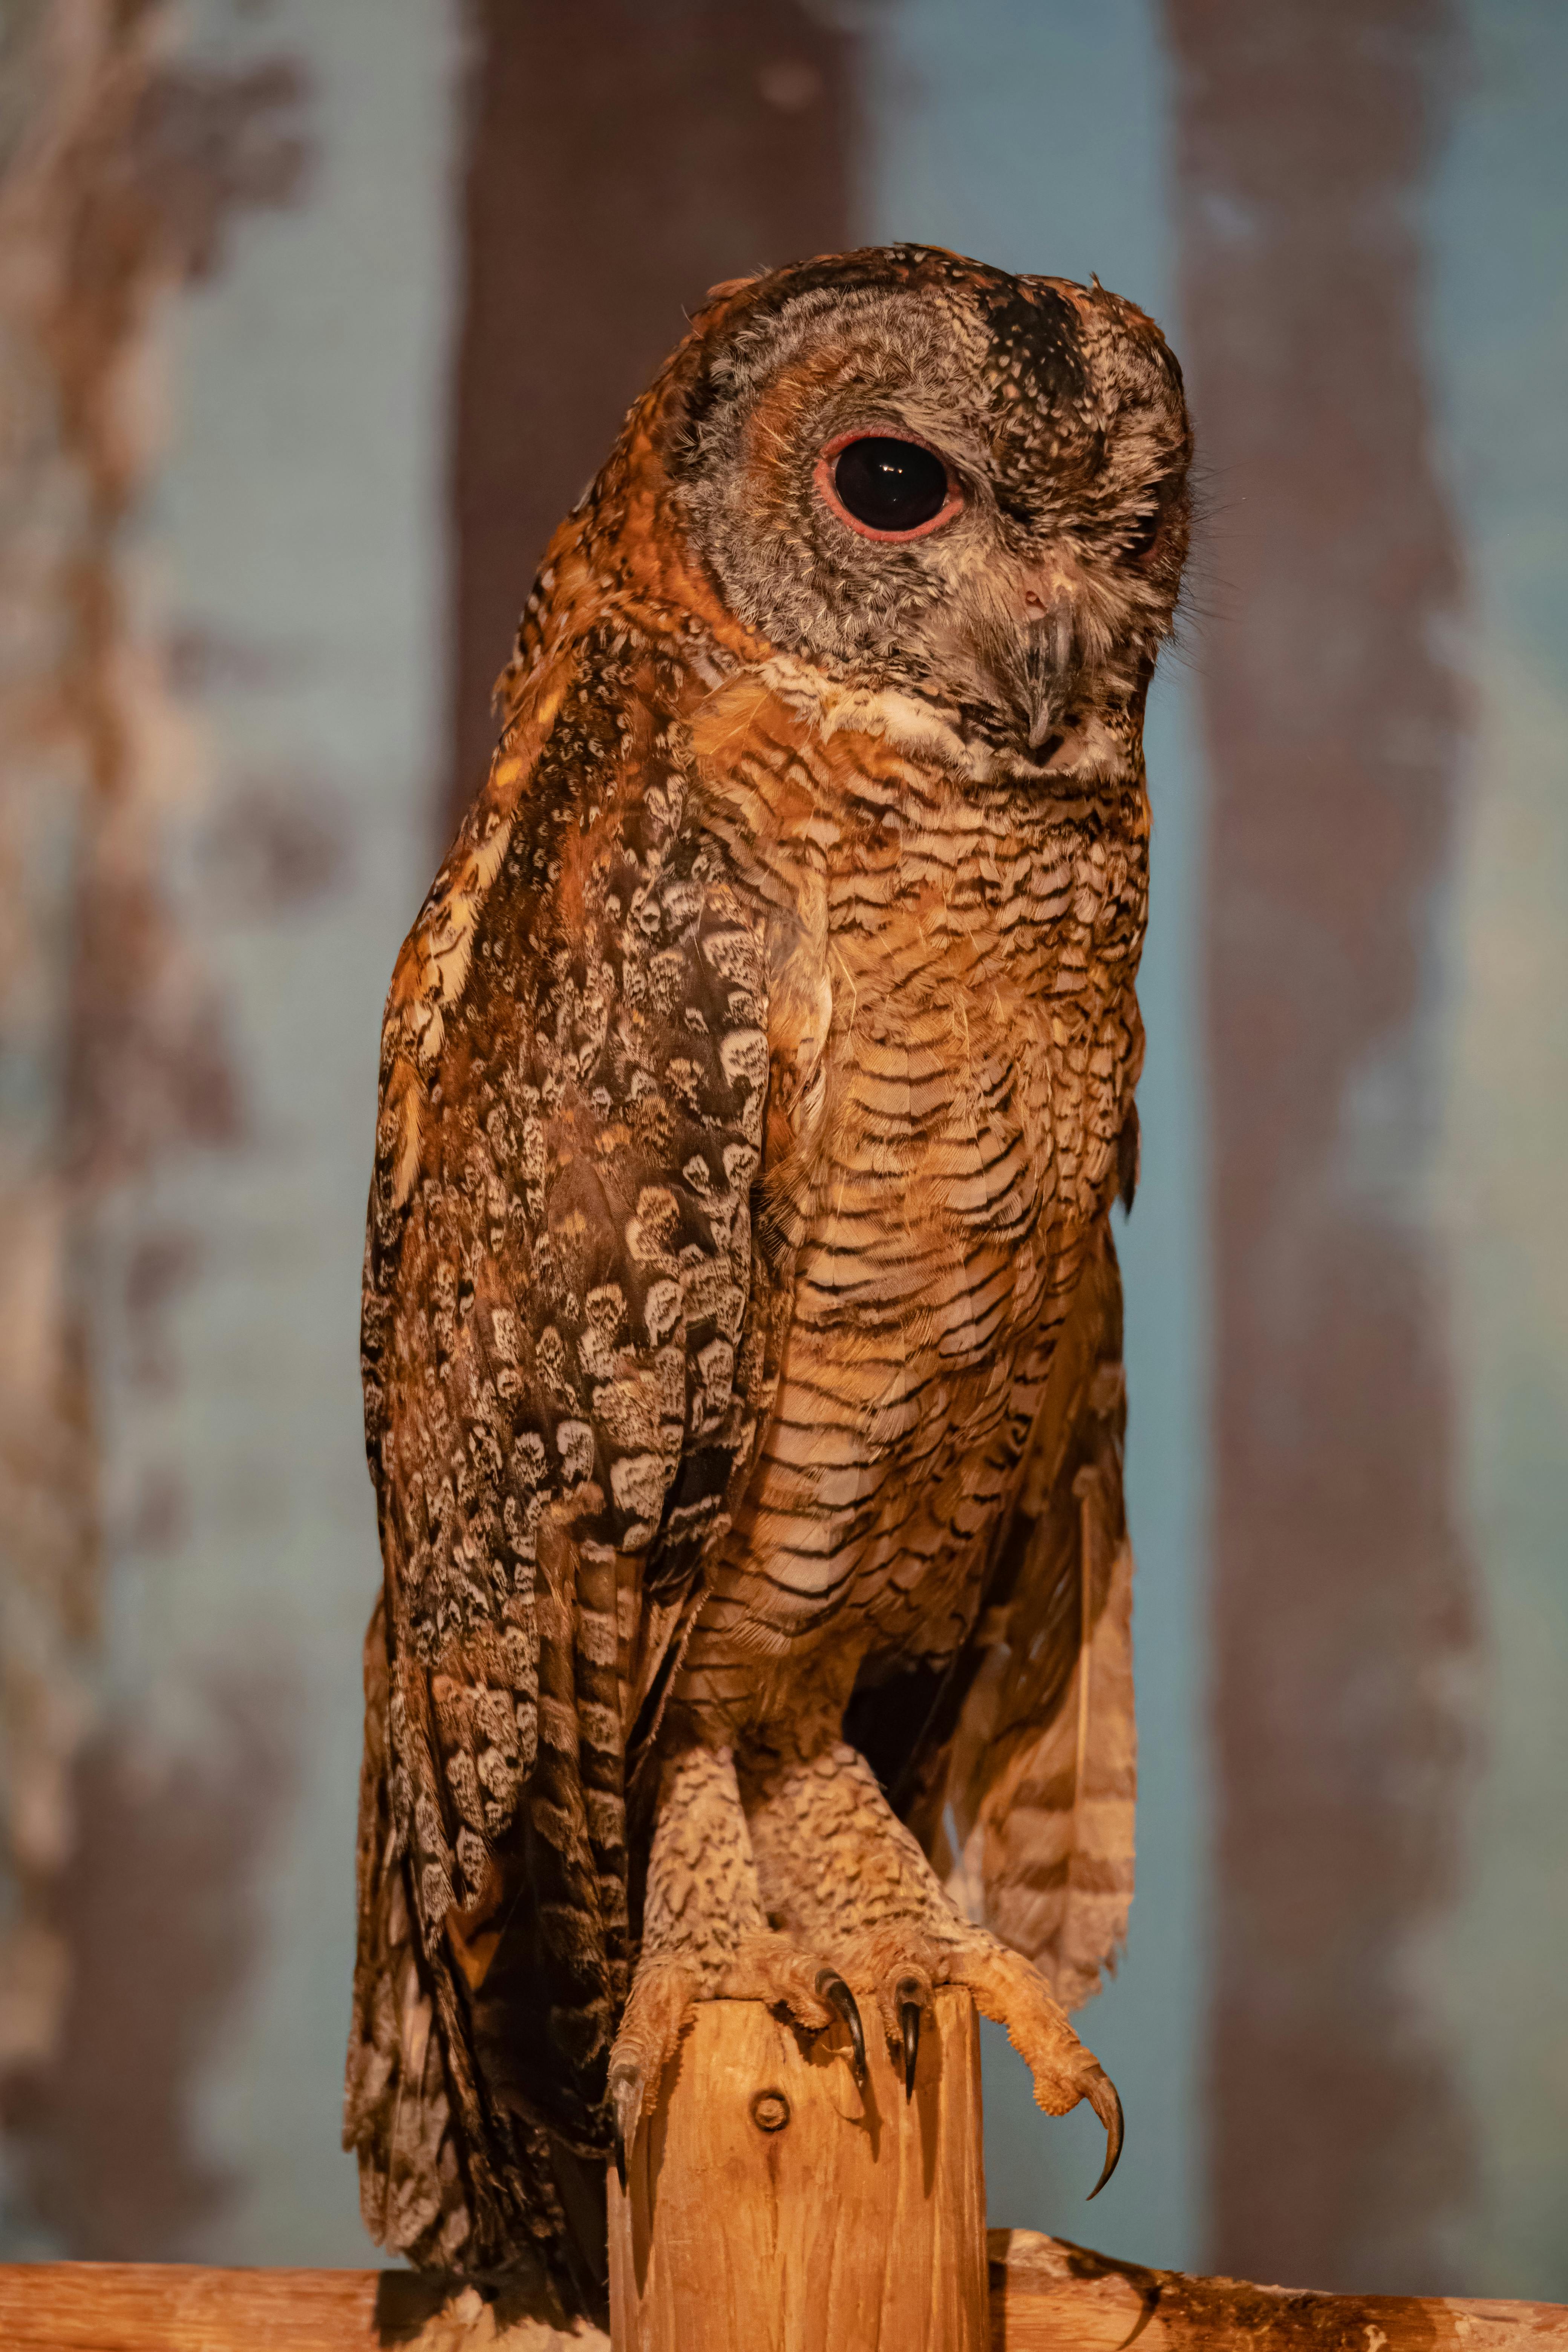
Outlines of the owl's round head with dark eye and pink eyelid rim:
M1095 715L1135 720L1192 456L1154 322L1098 282L929 247L715 294L668 379L665 468L719 602L1041 764Z

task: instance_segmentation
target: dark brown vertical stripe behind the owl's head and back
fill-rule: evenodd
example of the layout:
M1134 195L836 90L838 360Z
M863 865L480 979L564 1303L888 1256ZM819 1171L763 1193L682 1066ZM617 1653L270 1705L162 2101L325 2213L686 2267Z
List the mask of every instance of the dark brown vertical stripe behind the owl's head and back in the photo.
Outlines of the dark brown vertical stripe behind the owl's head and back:
M832 252L849 42L802 0L480 0L442 826L545 539L719 278Z

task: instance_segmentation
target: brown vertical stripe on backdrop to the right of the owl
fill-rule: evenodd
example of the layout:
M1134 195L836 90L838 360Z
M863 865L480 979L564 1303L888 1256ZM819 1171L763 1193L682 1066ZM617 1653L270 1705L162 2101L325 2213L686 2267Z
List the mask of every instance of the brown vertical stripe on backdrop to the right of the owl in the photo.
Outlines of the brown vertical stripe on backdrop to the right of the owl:
M1465 2119L1408 1957L1472 1639L1418 1228L1455 795L1415 205L1441 0L1168 0L1213 524L1220 2267L1443 2284Z

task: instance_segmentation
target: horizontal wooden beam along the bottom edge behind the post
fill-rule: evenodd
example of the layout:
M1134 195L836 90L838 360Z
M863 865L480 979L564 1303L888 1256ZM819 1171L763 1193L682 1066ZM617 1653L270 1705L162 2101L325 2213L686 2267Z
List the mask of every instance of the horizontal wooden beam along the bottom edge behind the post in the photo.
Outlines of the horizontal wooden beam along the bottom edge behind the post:
M1568 2352L1568 2305L1314 2296L990 2232L994 2352ZM5 2352L607 2352L407 2270L0 2265ZM853 2352L853 2347L844 2347Z

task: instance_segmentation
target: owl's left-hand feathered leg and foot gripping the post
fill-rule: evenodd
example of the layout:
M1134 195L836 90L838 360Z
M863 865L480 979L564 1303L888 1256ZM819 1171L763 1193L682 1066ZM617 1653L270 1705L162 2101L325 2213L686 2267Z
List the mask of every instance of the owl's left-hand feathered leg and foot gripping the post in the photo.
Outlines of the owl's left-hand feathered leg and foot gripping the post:
M769 1929L729 1750L691 1748L663 1771L642 1962L609 2053L623 2187L637 2124L654 2103L691 2009L719 1999L766 2002L809 2032L842 2020L856 2079L865 2079L860 2009L844 1976Z

